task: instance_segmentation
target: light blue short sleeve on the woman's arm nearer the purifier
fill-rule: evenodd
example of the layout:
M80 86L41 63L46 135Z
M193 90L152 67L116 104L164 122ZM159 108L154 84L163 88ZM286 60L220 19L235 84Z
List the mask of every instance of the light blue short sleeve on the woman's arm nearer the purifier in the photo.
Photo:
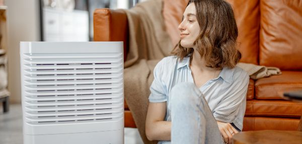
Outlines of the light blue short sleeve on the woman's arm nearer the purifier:
M154 68L154 80L150 86L149 102L167 101L167 86L162 78L164 72L164 59Z

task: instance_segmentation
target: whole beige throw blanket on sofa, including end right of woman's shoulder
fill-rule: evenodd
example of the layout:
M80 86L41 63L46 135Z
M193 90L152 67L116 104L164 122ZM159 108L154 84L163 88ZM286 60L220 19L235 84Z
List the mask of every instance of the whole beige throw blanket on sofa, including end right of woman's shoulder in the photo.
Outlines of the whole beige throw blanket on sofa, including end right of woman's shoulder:
M161 0L146 1L125 10L129 24L129 52L124 63L124 95L135 124L144 143L145 119L148 107L149 87L153 81L155 65L172 51L172 44L165 29ZM278 74L279 69L240 63L251 78L258 79Z

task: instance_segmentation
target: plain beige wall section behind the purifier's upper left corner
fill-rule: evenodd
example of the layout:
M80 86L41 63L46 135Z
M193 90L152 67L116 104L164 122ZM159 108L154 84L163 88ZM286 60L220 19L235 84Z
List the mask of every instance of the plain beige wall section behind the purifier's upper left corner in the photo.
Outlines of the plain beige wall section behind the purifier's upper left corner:
M11 102L21 102L20 56L21 41L40 41L38 0L8 0L8 62Z

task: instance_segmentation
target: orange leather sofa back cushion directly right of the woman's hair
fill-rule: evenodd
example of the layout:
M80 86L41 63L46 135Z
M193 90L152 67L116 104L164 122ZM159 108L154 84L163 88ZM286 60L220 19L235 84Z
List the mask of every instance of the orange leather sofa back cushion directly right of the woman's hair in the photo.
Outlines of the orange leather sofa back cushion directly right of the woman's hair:
M238 26L238 49L241 62L258 64L259 1L226 0L234 9Z

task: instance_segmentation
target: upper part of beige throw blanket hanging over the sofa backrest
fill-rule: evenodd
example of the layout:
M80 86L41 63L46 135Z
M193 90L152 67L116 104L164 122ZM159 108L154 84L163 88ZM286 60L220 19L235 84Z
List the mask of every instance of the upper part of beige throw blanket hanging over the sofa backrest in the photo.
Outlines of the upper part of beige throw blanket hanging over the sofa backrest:
M140 59L155 60L168 56L172 50L166 33L161 0L146 1L125 10L129 24L129 52L124 67Z

